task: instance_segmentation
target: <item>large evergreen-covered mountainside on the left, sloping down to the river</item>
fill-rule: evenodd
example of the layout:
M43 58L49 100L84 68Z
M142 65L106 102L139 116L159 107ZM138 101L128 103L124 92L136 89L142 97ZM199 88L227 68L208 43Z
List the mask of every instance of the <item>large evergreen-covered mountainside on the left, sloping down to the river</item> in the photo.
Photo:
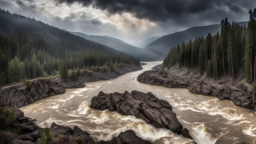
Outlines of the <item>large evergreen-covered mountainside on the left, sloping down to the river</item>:
M0 9L0 85L69 69L139 60L46 23Z

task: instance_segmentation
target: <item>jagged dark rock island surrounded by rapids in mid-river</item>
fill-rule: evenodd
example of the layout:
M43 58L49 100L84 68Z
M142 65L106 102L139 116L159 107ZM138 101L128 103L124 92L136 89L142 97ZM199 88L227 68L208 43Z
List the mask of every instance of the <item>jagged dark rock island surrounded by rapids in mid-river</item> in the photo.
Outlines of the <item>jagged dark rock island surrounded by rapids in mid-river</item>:
M132 91L131 94L127 91L124 94L100 92L97 97L92 98L91 107L100 110L117 110L122 115L136 116L157 128L167 128L174 133L183 134L192 139L188 130L183 128L176 118L176 114L172 112L172 106L151 92L147 94L138 91Z

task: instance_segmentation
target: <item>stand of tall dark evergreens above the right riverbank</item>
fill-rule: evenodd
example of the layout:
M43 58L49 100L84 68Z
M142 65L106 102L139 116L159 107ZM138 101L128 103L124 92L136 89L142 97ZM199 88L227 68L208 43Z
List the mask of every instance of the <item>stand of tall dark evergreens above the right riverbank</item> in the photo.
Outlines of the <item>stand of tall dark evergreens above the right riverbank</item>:
M248 26L221 22L221 34L207 35L187 44L178 44L163 61L163 67L197 68L208 77L218 79L229 74L236 78L243 68L248 82L254 82L256 71L256 9L249 10Z

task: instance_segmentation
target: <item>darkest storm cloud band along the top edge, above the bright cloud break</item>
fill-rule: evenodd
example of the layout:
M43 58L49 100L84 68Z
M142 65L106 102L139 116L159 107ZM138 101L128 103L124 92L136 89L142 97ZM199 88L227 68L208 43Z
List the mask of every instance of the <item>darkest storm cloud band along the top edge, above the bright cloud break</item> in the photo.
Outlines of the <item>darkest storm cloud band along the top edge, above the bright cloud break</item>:
M219 14L218 9L225 9L224 15L227 13L243 13L248 7L256 4L255 0L56 0L59 3L66 2L72 4L79 2L85 6L93 5L93 7L101 10L107 10L112 13L129 12L140 19L150 19L155 22L165 22L169 19L187 18L192 14L205 13L212 10L209 15ZM223 14L223 13L222 13ZM199 16L200 17L200 16Z

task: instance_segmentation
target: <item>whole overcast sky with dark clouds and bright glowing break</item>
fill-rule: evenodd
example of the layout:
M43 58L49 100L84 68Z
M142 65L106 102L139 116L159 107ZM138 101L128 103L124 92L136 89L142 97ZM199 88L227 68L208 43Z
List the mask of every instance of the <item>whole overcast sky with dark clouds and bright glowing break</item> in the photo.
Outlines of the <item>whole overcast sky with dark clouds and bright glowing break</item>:
M192 26L247 21L255 0L0 0L0 8L68 31L128 43Z

